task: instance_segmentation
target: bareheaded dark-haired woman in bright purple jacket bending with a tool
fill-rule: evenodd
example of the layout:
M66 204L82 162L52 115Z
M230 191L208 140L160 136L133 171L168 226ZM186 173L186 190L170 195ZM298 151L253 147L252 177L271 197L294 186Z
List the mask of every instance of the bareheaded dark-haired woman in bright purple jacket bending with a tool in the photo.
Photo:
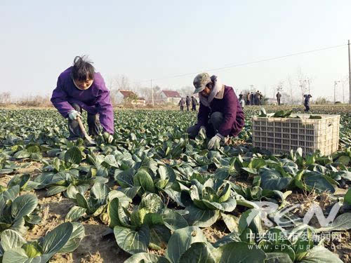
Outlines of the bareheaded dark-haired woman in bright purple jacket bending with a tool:
M77 117L81 118L82 109L88 112L90 135L98 135L102 130L114 133L110 91L101 74L95 72L91 62L86 61L84 56L74 58L73 66L58 76L51 102L64 118L68 118L68 140L84 137L77 121Z

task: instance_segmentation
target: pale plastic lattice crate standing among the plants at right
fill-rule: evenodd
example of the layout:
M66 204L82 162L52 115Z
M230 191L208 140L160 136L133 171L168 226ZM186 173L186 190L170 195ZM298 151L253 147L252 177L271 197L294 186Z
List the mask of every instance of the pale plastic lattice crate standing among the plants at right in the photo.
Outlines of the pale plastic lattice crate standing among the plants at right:
M319 149L322 155L338 150L340 115L310 119L311 114L291 114L291 118L252 117L253 147L272 154L286 154L299 147L303 155ZM293 119L299 116L300 119Z

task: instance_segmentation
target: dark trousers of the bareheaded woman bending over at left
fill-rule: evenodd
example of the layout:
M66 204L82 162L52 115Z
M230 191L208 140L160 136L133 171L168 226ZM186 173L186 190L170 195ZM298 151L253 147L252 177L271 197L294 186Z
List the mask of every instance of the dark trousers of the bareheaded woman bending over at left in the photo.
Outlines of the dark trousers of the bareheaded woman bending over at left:
M81 107L77 103L72 103L72 107L77 112L82 112ZM98 135L102 132L102 126L100 124L99 115L98 114L90 114L88 113L88 133L89 135ZM78 138L84 138L83 133L81 133L81 128L79 128L79 124L77 120L71 120L68 118L68 130L69 137L68 140L77 140Z

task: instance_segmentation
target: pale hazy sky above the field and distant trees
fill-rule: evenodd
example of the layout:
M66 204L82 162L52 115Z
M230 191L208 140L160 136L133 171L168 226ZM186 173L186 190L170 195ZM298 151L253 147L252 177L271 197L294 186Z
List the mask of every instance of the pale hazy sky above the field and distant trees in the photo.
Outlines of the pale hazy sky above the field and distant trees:
M350 0L16 1L0 0L0 92L46 95L74 56L86 54L107 82L192 86L197 72L329 46L345 46L232 67L216 74L237 90L272 97L298 71L314 97L333 97L348 72ZM187 74L190 73L190 74ZM185 76L172 78L178 74ZM348 83L344 81L345 98ZM343 100L342 83L337 100Z

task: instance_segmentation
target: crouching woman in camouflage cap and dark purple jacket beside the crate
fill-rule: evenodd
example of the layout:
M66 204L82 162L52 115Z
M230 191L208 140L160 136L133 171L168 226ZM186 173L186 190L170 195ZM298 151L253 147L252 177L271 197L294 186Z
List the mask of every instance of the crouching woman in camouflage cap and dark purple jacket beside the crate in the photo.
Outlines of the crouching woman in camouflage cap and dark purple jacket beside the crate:
M197 124L187 129L189 137L193 139L203 130L211 138L208 149L213 149L216 142L224 142L225 137L237 136L244 127L244 112L233 88L207 73L198 74L194 86L194 93L199 93L200 107Z

